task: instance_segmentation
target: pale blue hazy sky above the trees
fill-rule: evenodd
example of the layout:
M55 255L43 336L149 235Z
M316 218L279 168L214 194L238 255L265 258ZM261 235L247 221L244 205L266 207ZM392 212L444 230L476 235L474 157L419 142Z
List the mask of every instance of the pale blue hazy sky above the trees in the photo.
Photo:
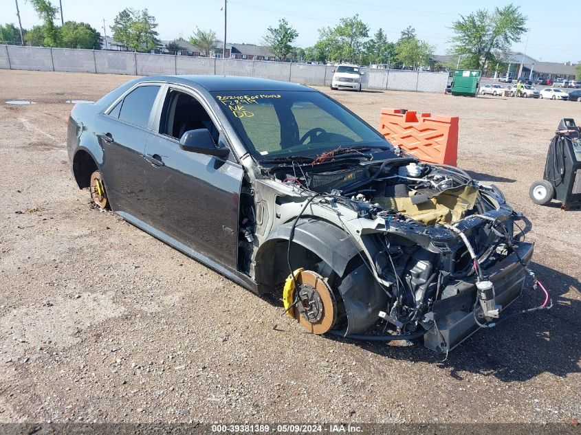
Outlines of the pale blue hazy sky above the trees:
M52 0L58 5L59 0ZM40 21L26 0L18 0L23 27ZM103 33L103 19L109 26L124 8L147 8L155 16L157 31L163 40L188 38L196 27L213 29L223 38L223 0L61 0L65 21L85 21ZM475 3L465 0L228 0L228 43L260 45L266 29L285 18L298 31L294 45L308 47L318 38L318 29L336 25L341 18L358 13L370 27L370 36L382 27L390 41L408 25L417 36L435 45L435 54L446 54L452 36L449 29L459 14L470 14L478 8L494 9L509 3L487 0ZM513 45L516 52L543 62L581 62L581 1L521 0L528 17L528 34ZM0 0L0 23L18 23L14 0ZM60 18L60 17L59 17ZM528 41L527 41L528 40ZM526 50L525 50L526 48Z

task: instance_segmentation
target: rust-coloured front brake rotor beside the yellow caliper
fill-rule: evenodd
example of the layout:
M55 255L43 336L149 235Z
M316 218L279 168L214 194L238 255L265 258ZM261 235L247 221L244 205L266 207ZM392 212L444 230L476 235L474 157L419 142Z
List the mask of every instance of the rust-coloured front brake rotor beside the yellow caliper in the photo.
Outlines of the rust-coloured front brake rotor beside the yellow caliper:
M307 331L324 334L337 320L337 302L322 276L303 270L296 275L300 302L292 309L293 317Z

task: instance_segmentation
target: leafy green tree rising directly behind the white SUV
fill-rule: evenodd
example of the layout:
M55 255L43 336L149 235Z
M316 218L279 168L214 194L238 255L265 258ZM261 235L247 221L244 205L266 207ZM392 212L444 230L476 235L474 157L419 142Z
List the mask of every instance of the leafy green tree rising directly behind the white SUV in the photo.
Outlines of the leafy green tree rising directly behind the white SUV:
M369 36L369 26L359 15L342 18L336 27L319 29L319 40L315 48L326 60L349 60L358 62L364 54L365 39Z

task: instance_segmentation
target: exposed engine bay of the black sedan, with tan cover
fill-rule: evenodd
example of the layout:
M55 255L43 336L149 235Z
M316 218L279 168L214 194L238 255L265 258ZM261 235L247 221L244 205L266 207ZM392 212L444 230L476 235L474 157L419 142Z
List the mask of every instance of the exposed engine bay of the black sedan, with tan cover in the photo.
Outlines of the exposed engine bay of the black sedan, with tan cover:
M457 310L473 311L481 326L498 317L503 306L496 304L500 299L495 299L486 274L515 252L513 223L520 219L499 190L481 186L457 168L409 158L380 165L338 162L333 170L317 170L317 166L293 165L292 173L279 167L273 175L298 192L318 194L321 203L331 208L340 204L362 220L376 223L380 218L385 225L384 231L362 231L361 241L372 255L377 278L372 287L378 289L358 290L366 292L366 298L380 300L381 320L377 322L375 315L353 321L345 313L353 317L356 310L349 304L358 302L346 300L336 324L344 335L363 333L382 322L393 334L410 335L430 330L439 317ZM457 303L463 290L474 285L479 291L478 317L472 298ZM505 292L507 303L520 293L522 284L517 287L511 287L510 295ZM440 335L443 342L435 342L432 348L448 350L446 339L457 343L465 338L451 337L450 331Z

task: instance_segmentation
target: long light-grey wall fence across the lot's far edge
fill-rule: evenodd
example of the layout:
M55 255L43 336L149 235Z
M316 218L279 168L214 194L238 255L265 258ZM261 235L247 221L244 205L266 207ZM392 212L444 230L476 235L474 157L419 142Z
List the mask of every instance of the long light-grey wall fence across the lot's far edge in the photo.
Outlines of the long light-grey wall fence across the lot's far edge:
M220 58L195 58L171 54L109 52L104 50L0 46L0 69L71 71L96 74L157 76L169 74L226 74L330 86L331 65L268 62ZM362 68L364 89L443 92L448 73Z

